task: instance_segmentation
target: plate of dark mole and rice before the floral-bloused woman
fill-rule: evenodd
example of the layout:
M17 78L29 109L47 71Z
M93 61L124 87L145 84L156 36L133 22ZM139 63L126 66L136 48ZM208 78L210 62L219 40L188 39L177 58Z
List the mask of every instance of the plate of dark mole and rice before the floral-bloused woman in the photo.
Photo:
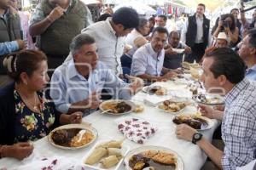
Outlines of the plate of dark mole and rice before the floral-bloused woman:
M65 150L77 150L92 144L98 136L96 128L84 124L56 127L49 135L49 143Z

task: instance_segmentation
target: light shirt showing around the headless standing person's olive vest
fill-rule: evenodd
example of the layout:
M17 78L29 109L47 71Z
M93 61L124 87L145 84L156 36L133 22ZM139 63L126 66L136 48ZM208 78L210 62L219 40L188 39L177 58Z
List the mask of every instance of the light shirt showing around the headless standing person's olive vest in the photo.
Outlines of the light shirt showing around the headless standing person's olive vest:
M74 0L70 0L69 6L67 7L67 9L65 9L65 13L69 12L70 7L73 4L73 1ZM83 17L84 19L86 19L85 20L85 27L89 26L90 24L93 23L92 17L91 17L91 14L90 14L90 9L87 6L86 6L86 10L87 10L87 15ZM41 3L39 3L38 6L36 7L35 11L32 14L29 25L32 26L33 24L38 23L41 20L44 20L45 17L47 17L47 16L44 16L44 11L43 11L42 5L41 5Z

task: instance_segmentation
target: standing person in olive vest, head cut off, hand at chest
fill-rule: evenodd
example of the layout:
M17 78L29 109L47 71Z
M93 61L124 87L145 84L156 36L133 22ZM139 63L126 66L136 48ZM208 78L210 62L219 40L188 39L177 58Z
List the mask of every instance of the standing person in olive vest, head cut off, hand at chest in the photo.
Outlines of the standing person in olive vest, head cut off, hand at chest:
M73 37L90 25L89 8L79 0L43 0L32 14L29 32L48 57L49 69L61 65ZM50 75L50 74L49 74Z

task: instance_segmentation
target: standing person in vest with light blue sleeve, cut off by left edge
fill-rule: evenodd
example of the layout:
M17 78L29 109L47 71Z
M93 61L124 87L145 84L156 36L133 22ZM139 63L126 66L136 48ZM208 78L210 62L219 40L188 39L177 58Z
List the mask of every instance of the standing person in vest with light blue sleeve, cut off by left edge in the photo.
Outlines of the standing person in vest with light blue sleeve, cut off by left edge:
M19 14L9 7L9 0L0 0L0 86L9 82L3 67L3 54L25 48L26 43L21 39Z

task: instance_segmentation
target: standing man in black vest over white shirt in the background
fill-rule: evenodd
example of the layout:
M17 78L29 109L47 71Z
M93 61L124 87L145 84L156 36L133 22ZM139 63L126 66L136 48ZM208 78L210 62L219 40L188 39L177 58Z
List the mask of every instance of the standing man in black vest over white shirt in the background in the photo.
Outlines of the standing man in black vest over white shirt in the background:
M196 13L190 16L183 26L181 40L192 48L192 54L185 58L188 62L201 61L209 43L210 20L204 15L205 10L204 4L198 4Z

